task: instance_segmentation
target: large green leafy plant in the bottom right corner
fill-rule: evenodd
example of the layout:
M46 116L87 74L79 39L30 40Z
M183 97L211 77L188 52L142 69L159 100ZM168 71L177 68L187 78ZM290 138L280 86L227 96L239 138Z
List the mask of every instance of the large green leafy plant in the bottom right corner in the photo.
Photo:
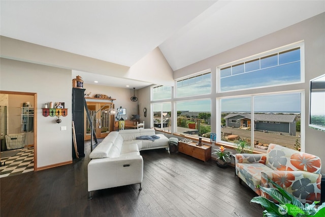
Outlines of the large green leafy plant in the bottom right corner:
M272 217L289 217L289 216L315 216L322 217L325 216L325 203L317 206L319 201L314 201L312 204L306 203L305 205L300 202L293 195L287 193L280 185L276 182L268 179L270 183L276 189L273 188L264 188L262 186L258 186L261 191L267 193L270 197L272 197L278 203L271 201L262 196L254 197L250 200L250 202L258 203L266 210L263 211L263 216L272 216Z

